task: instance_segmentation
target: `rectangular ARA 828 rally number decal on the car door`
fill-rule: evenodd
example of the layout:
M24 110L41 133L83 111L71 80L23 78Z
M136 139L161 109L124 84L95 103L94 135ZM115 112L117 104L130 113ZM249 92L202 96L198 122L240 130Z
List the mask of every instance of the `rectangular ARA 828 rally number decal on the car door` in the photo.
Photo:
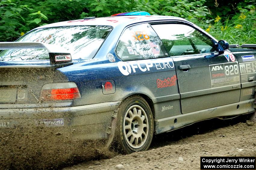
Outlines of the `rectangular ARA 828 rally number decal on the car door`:
M238 63L209 65L211 88L240 83Z

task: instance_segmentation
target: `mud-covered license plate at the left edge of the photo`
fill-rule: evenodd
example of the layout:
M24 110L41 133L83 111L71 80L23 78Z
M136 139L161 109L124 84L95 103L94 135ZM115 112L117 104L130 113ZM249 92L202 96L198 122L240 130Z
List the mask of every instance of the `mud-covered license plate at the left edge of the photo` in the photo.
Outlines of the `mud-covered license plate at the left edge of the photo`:
M14 103L16 101L17 88L0 88L0 103Z

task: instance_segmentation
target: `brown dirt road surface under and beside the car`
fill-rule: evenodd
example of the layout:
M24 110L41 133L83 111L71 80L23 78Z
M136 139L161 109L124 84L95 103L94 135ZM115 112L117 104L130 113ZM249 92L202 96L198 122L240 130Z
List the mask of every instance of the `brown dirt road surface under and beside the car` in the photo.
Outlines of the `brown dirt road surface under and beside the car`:
M63 170L200 169L200 156L256 156L256 122L246 116L211 119L155 135L148 151L116 153L110 159L83 162Z

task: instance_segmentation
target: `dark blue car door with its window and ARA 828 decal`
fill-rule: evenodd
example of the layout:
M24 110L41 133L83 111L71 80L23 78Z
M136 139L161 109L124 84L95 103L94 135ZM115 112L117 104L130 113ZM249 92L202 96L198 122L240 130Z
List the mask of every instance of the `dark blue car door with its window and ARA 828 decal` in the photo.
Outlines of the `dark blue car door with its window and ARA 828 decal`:
M232 53L207 58L217 51L213 42L190 25L151 26L173 58L183 114L239 102L240 73Z

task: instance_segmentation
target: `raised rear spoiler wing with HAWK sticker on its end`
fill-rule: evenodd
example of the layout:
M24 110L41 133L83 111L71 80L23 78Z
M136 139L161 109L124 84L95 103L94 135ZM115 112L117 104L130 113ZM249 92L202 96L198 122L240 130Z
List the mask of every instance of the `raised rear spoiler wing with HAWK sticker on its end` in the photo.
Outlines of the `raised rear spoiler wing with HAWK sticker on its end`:
M71 54L63 47L42 42L0 42L0 50L45 48L49 52L50 64L72 64Z

